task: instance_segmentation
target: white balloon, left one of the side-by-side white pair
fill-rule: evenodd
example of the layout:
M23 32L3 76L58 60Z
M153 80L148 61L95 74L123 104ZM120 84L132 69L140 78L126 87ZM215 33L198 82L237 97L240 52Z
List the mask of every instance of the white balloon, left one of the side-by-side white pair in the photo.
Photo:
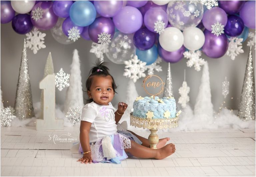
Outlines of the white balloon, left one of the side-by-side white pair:
M168 51L173 52L178 50L183 45L184 37L182 32L175 27L168 27L164 29L159 36L159 43L161 47Z

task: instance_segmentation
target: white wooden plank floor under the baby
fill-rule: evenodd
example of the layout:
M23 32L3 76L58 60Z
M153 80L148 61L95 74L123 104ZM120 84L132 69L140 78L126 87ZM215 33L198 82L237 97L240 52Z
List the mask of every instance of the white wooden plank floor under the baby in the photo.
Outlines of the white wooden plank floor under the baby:
M206 129L162 133L176 152L163 159L128 158L121 164L77 162L72 142L55 142L54 134L79 140L79 125L57 131L35 127L1 128L1 176L255 176L255 129ZM136 132L148 137L148 132ZM65 138L68 136L65 136ZM74 142L74 141L73 141Z

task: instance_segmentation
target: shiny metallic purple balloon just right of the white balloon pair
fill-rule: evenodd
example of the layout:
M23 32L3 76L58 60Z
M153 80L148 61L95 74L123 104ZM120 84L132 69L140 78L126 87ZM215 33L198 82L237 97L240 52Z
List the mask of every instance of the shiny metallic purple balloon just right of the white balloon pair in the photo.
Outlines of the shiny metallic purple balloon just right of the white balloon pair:
M205 42L202 51L210 58L220 58L228 50L228 38L225 34L216 36L208 30L204 30Z

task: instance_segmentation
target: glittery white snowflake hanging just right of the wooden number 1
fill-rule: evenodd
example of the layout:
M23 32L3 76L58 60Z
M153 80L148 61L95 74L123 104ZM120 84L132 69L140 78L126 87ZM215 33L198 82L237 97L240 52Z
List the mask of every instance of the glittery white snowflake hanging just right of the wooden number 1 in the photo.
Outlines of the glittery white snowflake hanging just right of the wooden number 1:
M62 68L55 74L55 85L59 91L69 86L69 74L64 73Z

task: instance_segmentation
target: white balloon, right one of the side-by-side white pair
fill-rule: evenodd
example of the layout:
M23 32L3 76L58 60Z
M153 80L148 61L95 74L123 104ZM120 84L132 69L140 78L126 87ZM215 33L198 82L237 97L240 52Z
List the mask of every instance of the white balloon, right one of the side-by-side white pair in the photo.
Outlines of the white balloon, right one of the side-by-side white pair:
M202 30L197 27L188 27L183 31L183 45L188 50L198 50L204 45L205 37Z

